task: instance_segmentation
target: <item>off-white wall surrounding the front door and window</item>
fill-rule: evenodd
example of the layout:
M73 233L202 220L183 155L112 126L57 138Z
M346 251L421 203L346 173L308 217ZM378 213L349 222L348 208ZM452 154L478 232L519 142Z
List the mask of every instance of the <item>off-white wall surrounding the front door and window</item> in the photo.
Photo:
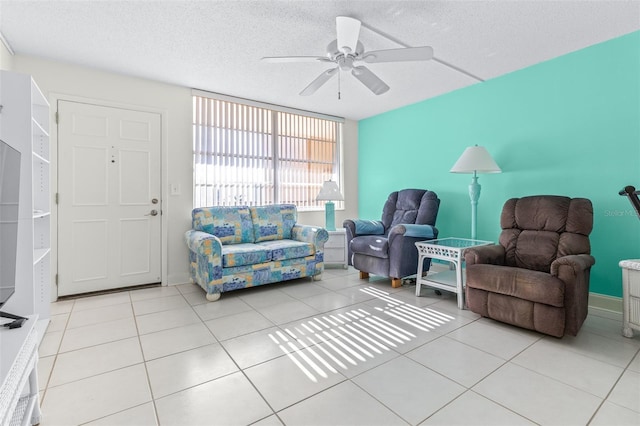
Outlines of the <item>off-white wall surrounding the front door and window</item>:
M191 89L24 55L13 57L13 71L33 75L50 102L57 97L70 96L163 111L163 132L166 133L167 142L163 184L178 184L181 188L180 195L168 196L166 188L164 191L163 220L167 224L165 279L168 284L188 282L187 249L183 235L191 226L193 206ZM52 104L51 109L52 113L55 112L56 106ZM55 129L52 129L53 133ZM336 212L338 226L345 218L357 217L358 212L357 122L345 123L343 146L343 194L346 202L345 210ZM52 151L55 151L55 147L52 147ZM52 193L62 193L64 188L57 188L56 156L53 152L52 160L52 184L55 185ZM52 216L52 219L56 217ZM301 212L299 222L322 225L324 212ZM56 258L56 248L53 250Z

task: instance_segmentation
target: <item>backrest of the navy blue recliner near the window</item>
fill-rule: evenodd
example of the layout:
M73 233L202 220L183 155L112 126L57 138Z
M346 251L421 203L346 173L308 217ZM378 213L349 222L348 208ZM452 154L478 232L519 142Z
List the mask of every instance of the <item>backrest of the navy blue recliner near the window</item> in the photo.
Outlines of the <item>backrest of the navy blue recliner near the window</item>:
M400 223L435 226L440 199L433 191L403 189L389 194L382 209L385 234Z

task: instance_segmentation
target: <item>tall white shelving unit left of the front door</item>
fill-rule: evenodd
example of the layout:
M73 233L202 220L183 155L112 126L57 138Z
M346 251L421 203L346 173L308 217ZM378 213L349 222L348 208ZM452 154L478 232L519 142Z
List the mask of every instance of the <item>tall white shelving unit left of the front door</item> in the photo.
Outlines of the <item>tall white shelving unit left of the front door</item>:
M51 303L49 103L31 76L0 73L0 138L21 153L16 292L2 307L38 315L42 335Z

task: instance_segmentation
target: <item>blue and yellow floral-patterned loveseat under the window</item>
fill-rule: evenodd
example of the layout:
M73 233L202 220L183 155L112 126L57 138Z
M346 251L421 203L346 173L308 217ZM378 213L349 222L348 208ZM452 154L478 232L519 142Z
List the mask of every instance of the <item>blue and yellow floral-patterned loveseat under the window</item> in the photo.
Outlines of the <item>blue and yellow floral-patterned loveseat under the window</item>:
M226 291L322 274L329 234L297 224L293 204L203 207L191 218L189 271L209 301Z

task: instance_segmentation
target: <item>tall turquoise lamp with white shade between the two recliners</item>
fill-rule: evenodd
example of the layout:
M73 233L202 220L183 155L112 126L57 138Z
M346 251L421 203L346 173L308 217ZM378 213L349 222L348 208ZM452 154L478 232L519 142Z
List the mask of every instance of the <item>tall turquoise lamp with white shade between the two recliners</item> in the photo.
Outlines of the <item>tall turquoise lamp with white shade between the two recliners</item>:
M464 150L456 164L450 170L451 173L473 173L469 184L469 198L471 198L471 239L476 239L476 227L478 223L478 199L480 199L480 184L478 173L502 173L502 170L491 154L483 146L470 146Z

